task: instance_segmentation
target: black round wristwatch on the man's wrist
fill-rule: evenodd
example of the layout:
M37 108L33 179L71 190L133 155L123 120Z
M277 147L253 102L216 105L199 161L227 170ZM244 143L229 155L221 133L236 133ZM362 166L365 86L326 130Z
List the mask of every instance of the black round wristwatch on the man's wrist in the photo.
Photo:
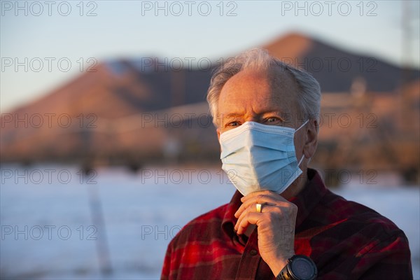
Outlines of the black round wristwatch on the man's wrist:
M311 258L306 255L293 255L287 265L281 269L276 280L314 280L318 269Z

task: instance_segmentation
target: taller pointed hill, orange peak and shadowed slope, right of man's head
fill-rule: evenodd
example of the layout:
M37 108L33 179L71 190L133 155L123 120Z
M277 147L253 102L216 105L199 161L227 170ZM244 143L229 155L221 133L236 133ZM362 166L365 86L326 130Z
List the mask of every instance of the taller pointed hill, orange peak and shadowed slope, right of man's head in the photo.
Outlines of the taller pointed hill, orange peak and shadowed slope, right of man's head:
M348 92L353 81L363 78L366 90L395 92L405 81L420 78L418 69L401 69L376 55L357 55L302 34L288 34L267 45L272 55L303 68L318 80L323 92Z

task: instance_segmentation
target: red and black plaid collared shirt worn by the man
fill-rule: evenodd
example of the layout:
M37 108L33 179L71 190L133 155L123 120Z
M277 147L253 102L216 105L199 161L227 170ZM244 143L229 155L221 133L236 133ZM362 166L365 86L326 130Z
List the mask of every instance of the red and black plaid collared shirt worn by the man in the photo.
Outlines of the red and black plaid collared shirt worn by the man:
M308 169L297 205L295 253L308 255L318 279L412 279L407 237L384 216L325 188ZM258 253L258 233L237 236L242 195L188 223L168 246L162 279L275 279Z

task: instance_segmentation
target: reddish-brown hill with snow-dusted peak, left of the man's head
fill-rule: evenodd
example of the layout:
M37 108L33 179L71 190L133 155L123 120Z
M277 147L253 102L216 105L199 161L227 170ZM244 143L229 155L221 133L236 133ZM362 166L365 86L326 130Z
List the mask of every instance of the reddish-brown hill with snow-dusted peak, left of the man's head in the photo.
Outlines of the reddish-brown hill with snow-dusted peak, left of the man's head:
M167 128L179 118L177 113L150 112L202 101L210 75L210 71L141 72L124 60L99 64L95 70L2 114L1 160L158 157ZM208 118L208 110L200 110ZM197 117L181 116L186 121ZM126 129L129 119L131 126Z

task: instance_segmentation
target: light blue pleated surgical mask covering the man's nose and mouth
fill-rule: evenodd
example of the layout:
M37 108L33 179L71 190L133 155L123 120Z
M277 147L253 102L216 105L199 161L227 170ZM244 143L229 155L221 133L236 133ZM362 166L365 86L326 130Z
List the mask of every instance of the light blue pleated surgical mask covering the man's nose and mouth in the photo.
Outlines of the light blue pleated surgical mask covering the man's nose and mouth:
M222 169L242 195L259 190L283 193L302 174L304 155L297 162L293 143L297 130L246 122L221 134Z

